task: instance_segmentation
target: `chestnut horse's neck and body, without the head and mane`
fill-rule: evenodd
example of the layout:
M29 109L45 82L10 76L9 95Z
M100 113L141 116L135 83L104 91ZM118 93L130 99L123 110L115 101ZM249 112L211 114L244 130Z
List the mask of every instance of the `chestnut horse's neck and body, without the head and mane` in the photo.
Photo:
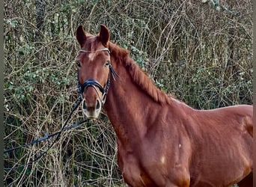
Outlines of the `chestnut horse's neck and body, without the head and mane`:
M116 70L125 77L126 71ZM122 77L110 88L105 109L118 137L118 165L130 186L229 186L250 173L246 118L252 119L252 106L199 111L173 98L170 104L152 104Z

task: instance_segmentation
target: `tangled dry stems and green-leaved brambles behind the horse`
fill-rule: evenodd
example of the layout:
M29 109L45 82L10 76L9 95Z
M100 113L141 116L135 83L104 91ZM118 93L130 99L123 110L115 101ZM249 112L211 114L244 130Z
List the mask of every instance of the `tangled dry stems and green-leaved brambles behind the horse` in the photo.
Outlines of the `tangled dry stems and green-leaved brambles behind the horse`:
M252 104L252 1L220 1L219 11L211 2L4 0L5 149L61 128L77 98L80 24L91 34L107 25L159 88L194 108ZM70 123L82 119L79 109ZM4 154L4 167L52 141ZM125 186L116 151L103 114L4 171L4 186Z

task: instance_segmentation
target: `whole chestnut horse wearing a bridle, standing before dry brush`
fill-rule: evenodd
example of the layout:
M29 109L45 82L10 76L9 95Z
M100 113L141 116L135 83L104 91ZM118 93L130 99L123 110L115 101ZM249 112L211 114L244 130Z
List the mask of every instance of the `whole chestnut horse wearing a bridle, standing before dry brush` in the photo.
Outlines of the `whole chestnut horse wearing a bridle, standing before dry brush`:
M82 111L102 108L115 129L129 186L252 186L252 105L196 110L153 85L129 57L80 25L76 57ZM248 186L249 184L249 186Z

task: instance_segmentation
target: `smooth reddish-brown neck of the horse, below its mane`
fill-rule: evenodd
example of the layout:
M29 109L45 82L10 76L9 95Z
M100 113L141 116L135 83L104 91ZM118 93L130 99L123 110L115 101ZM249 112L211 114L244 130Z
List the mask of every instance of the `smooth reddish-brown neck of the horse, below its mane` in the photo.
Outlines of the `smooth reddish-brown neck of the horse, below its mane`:
M119 77L110 83L104 108L118 139L125 141L128 138L138 143L154 125L157 108L162 105L132 81L124 66L115 67L115 70Z

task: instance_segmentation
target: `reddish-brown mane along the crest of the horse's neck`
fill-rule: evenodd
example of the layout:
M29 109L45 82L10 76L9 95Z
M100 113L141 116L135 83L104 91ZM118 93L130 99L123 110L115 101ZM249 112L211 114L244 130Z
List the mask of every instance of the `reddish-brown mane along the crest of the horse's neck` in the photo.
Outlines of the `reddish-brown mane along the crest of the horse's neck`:
M135 61L129 56L129 50L121 48L120 46L109 42L109 50L115 61L122 64L132 77L132 81L135 82L141 89L143 89L153 100L161 104L170 103L171 95L167 95L165 92L156 88L152 80L144 73Z

